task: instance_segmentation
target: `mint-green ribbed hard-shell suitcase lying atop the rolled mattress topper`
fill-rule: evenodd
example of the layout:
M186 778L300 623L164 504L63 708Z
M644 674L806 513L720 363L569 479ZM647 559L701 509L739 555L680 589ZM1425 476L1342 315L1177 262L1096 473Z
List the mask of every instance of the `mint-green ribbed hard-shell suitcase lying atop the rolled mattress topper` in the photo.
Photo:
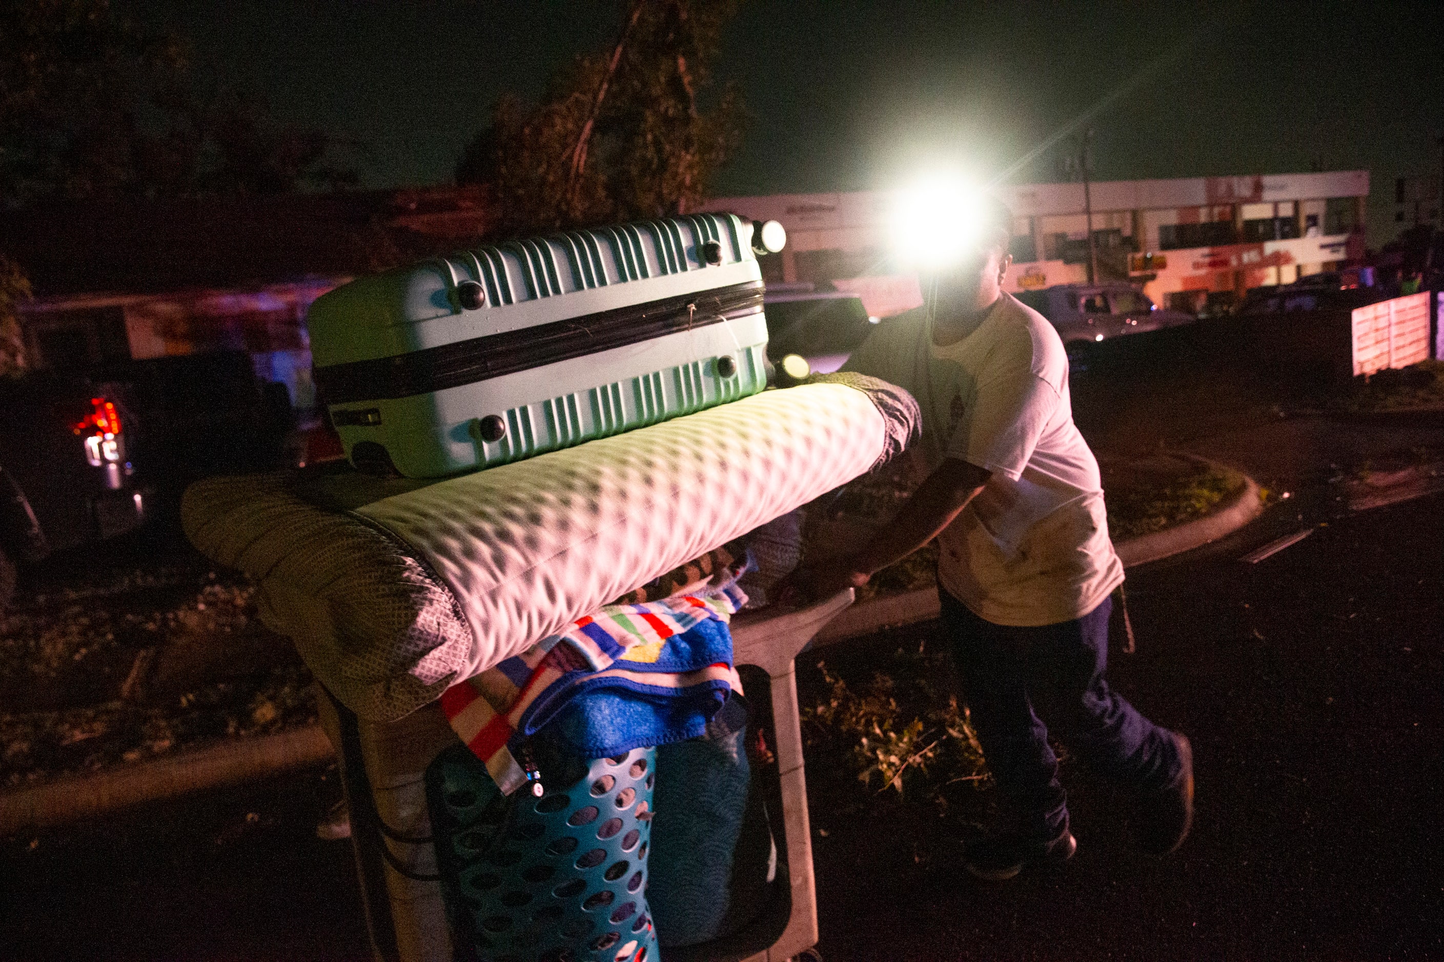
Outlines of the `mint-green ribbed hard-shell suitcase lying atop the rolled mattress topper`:
M316 385L351 463L407 477L735 401L767 384L754 244L778 234L697 213L362 277L310 307Z

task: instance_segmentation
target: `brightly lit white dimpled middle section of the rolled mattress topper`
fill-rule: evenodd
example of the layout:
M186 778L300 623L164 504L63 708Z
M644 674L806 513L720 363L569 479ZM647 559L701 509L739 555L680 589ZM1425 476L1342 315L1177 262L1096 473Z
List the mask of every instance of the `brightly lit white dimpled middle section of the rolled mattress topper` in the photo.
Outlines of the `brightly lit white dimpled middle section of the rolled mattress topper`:
M451 588L459 676L869 470L891 436L842 384L767 391L355 511Z

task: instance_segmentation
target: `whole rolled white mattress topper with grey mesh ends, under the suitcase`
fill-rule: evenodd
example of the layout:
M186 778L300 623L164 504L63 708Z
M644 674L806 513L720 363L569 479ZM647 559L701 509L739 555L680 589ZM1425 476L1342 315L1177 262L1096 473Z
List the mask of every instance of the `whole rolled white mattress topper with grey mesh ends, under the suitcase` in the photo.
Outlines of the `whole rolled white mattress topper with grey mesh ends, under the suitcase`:
M900 453L917 404L825 375L443 480L214 477L186 537L258 583L347 707L388 721Z

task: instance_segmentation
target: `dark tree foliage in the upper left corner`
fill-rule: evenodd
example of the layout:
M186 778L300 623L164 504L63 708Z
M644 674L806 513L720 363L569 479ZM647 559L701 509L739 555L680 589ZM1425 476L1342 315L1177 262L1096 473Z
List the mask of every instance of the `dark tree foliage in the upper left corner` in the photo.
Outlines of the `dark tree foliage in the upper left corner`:
M186 45L108 0L0 4L0 200L283 193L345 185L335 140L244 91L206 92Z

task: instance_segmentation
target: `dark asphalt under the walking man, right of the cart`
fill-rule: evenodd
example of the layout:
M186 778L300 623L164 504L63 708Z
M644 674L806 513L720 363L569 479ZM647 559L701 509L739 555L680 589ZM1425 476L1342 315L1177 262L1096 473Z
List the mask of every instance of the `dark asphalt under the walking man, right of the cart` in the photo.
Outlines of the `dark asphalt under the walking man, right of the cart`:
M1138 652L1110 678L1193 740L1177 854L1135 854L1128 799L1076 764L1077 855L1004 884L962 871L946 822L814 806L825 958L1444 958L1444 496L1344 518L1291 502L1129 577Z

